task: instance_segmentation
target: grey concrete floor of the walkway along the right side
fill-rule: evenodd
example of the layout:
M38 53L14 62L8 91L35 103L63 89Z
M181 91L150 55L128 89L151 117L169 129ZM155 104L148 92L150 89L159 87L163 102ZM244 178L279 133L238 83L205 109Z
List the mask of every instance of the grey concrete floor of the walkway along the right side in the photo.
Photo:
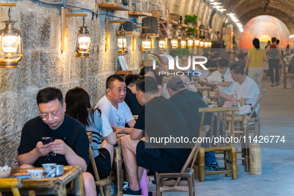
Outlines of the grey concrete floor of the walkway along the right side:
M288 81L289 83L289 81ZM238 180L224 175L206 176L206 181L195 180L196 195L213 196L293 196L294 195L294 90L289 83L270 87L264 79L262 89L267 89L260 111L261 135L285 135L285 143L265 145L260 143L262 175L244 172L238 161ZM220 162L223 167L223 162ZM155 193L155 185L149 185ZM188 193L164 193L163 196L188 196Z

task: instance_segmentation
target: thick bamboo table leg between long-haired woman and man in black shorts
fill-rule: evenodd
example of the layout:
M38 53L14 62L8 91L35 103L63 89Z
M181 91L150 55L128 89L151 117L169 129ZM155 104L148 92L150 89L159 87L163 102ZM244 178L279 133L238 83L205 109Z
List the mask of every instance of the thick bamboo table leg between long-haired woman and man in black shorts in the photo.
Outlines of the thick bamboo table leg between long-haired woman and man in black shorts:
M115 196L122 196L122 158L121 158L121 144L120 139L114 146L113 151L113 168L114 168L114 189Z

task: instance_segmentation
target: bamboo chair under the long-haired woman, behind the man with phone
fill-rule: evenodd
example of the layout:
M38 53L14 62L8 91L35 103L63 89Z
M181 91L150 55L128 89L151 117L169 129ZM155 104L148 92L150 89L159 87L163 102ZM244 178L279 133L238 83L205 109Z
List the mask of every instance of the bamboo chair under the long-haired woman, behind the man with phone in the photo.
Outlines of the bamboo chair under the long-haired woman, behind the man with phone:
M99 187L100 190L100 195L101 196L110 196L110 179L102 179L100 180L99 175L98 175L98 170L97 170L97 165L93 156L93 151L91 148L91 143L92 143L92 132L87 132L88 134L88 138L89 138L89 143L90 143L90 147L89 147L89 155L90 155L90 161L92 164L92 168L94 171L94 178L95 178L95 184ZM103 187L105 188L103 192Z

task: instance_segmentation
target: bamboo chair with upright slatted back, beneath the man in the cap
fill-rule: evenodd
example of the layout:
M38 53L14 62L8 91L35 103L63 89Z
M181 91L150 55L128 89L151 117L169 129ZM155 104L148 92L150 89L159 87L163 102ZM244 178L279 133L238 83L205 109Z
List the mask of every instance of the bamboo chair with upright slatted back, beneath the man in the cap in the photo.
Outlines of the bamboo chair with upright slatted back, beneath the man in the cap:
M210 139L212 140L213 136L213 123L214 123L214 113L217 113L217 128L216 128L216 137L220 137L220 113L222 113L222 125L223 125L223 135L224 137L224 131L226 129L226 121L225 121L225 112L232 112L231 115L231 121L234 124L235 120L235 112L239 111L238 107L202 107L199 108L199 112L201 113L201 120L200 120L200 128L202 129L204 124L204 114L205 112L211 112L211 129L210 129ZM233 124L231 125L233 128ZM225 176L232 176L232 180L238 179L238 169L237 169L237 147L235 145L232 145L230 142L228 144L226 143L217 143L215 147L212 147L211 145L212 141L209 142L209 147L206 148L200 148L199 149L199 169L198 175L199 176L199 182L205 181L205 175L217 175L217 174L225 174ZM207 171L205 172L205 160L204 160L204 153L205 152L223 152L224 153L224 166L225 170L223 171ZM230 159L229 160L229 155ZM229 162L227 162L227 160Z

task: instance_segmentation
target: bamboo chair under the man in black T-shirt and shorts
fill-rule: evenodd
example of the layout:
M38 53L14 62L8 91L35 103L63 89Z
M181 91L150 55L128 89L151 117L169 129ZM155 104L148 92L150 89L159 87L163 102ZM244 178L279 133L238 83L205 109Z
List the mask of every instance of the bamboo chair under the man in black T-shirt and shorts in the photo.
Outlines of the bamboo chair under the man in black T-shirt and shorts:
M210 126L205 125L200 136L203 138ZM194 145L185 165L180 173L159 173L156 176L156 195L162 196L162 192L189 192L189 196L195 196L195 182L194 182L194 163L199 151L201 143ZM191 163L191 165L190 165ZM188 168L188 166L191 166ZM176 181L163 181L163 178L177 178ZM188 181L183 181L181 178L188 178Z

